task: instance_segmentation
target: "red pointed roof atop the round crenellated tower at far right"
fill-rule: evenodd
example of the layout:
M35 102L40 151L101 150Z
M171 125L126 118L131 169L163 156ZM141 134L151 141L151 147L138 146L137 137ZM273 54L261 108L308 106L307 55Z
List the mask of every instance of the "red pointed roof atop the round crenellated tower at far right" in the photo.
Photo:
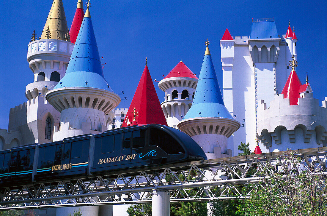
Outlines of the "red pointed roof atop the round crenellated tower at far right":
M295 70L292 70L282 91L284 98L289 98L289 105L298 105L301 85L298 75Z

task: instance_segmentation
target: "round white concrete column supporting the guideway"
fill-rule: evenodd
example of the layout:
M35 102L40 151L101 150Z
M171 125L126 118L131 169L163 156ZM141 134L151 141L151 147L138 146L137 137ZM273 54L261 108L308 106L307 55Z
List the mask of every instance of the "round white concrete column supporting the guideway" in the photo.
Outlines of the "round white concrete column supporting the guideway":
M153 190L152 196L152 215L170 215L170 194L168 191Z

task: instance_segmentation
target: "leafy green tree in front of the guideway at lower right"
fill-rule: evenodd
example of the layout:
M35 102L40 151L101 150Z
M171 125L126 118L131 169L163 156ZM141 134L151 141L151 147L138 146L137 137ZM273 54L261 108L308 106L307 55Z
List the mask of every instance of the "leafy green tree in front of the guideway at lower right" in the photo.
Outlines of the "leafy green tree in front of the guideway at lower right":
M266 168L268 178L253 185L251 198L239 210L254 216L327 215L326 177L307 170L295 152L278 160L284 166L278 173Z

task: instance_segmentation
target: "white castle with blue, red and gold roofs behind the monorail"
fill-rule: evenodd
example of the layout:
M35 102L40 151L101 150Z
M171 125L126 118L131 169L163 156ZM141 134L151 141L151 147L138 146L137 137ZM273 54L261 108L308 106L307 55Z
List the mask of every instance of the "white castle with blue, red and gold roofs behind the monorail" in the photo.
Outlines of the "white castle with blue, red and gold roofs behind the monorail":
M180 62L159 82L163 121L195 139L210 159L237 155L241 142L253 151L257 136L263 152L326 146L327 97L320 107L314 86L308 79L302 85L296 75L294 29L278 35L275 21L264 19L252 20L249 32L232 37L226 29L220 40L223 95L209 42L199 79ZM26 83L27 101L10 109L8 129L0 129L0 150L123 126L129 109L116 108L120 97L104 79L90 11L84 14L81 0L69 32L62 0L53 1L41 37L33 34L27 46L27 61L33 82ZM63 216L72 209L36 211ZM83 216L112 212L125 214L119 207L83 207Z

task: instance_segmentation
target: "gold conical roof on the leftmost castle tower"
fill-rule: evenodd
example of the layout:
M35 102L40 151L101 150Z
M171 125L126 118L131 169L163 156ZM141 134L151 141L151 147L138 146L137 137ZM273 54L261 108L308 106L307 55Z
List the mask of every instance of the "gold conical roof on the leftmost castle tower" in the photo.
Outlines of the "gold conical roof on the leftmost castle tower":
M50 30L49 39L65 40L68 27L62 0L53 0L48 19L43 28L41 39L47 39L46 30L48 26Z

